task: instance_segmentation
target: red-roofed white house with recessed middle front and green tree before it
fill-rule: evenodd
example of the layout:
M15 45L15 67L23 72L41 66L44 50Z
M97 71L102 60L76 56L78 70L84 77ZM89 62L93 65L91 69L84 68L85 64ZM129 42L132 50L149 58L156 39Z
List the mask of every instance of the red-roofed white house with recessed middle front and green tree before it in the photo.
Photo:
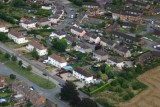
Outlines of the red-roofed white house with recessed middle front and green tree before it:
M43 55L47 55L47 49L40 44L39 42L32 40L27 46L26 48L31 52L33 51L33 49L36 49L37 53L39 56L43 56Z

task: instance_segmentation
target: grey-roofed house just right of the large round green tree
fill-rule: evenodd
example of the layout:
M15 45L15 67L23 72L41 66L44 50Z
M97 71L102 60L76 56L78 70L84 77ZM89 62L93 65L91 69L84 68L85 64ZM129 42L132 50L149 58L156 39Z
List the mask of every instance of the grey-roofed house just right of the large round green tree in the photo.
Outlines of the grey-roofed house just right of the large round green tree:
M92 49L87 46L85 43L79 43L74 48L76 51L82 52L82 53L91 53Z

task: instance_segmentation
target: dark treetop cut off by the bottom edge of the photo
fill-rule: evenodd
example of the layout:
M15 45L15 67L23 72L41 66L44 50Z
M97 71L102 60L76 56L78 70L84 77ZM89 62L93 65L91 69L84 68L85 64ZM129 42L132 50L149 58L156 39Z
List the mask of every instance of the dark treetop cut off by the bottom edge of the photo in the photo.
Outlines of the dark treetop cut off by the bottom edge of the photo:
M83 98L77 107L98 107L97 103L89 98Z

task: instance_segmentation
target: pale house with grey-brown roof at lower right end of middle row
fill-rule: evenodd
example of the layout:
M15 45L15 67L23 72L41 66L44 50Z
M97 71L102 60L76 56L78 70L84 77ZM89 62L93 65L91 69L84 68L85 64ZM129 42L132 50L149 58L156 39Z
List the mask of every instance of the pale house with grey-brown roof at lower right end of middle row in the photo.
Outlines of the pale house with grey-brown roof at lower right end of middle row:
M109 66L115 66L115 67L118 67L119 69L122 69L125 65L123 60L116 56L109 56L106 63Z

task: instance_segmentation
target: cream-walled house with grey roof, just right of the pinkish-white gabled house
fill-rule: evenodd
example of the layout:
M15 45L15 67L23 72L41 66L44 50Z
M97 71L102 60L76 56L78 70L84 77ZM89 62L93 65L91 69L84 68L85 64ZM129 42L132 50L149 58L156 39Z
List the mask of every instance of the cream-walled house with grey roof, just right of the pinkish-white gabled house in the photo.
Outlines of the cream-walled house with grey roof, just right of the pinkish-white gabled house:
M105 47L107 49L112 49L115 46L115 43L102 37L101 41L100 41L100 45L102 45L103 47Z

